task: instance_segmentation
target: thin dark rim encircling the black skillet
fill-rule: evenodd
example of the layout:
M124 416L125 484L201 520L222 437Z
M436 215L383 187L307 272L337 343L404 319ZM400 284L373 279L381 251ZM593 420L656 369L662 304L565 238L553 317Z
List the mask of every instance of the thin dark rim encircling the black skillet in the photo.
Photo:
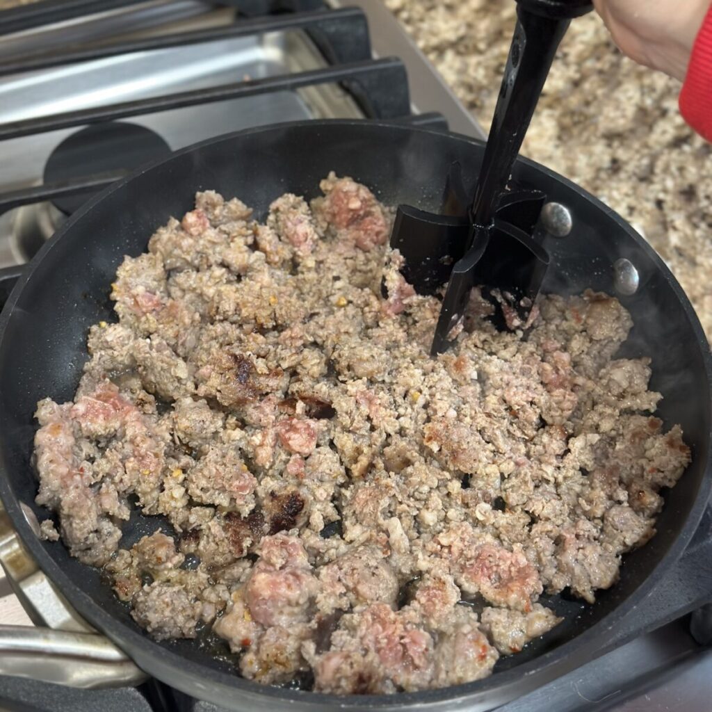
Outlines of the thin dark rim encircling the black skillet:
M234 137L259 135L264 132L271 132L274 130L283 131L291 128L313 129L318 132L321 127L334 125L359 127L362 130L372 131L375 133L382 128L387 128L389 130L399 130L408 133L419 132L421 134L431 134L439 137L446 135L451 140L464 141L473 145L483 145L481 140L474 139L469 136L454 132L444 132L442 130L413 127L399 124L397 122L325 119L283 122L260 127L252 127L250 129L231 132L218 137L212 137L208 140L184 147L181 150L174 151L168 157L157 159L135 169L126 177L105 188L102 192L90 199L78 211L70 216L66 223L63 224L58 231L56 231L53 237L42 246L36 256L31 260L31 262L28 263L25 271L23 271L6 302L4 310L0 315L0 342L4 339L7 327L13 318L14 307L20 298L23 288L31 279L31 276L37 266L44 260L51 259L53 246L55 246L58 241L63 239L66 234L70 233L73 226L82 220L85 214L92 211L95 206L100 204L113 192L120 191L127 183L135 179L135 177L145 174L146 172L150 172L152 169L171 161L175 157L190 152L197 152L202 147L223 141L229 141ZM617 223L619 228L627 232L629 238L644 250L656 268L663 273L666 281L669 283L676 297L682 304L685 316L687 320L689 320L693 333L696 337L695 347L701 350L707 382L712 388L712 354L710 352L708 340L703 333L696 312L684 293L684 290L681 288L664 261L662 261L658 254L651 248L651 246L649 246L649 244L647 244L642 236L634 231L634 229L632 229L632 227L629 226L629 224L627 224L627 222L624 221L624 219L622 219L617 212L602 203L602 201L597 199L595 196L577 186L577 184L573 183L569 179L551 171L533 160L525 157L519 157L517 160L521 164L525 164L528 167L539 172L543 172L543 174L548 177L557 180L557 182L562 184L562 186L566 189L578 192L584 199L592 204L595 209L602 211L607 219L612 219L615 223ZM710 407L712 407L712 400L708 399L708 402L710 403ZM0 499L4 504L9 517L11 518L11 521L23 545L25 545L25 547L29 550L41 570L47 575L49 580L51 580L51 582L58 587L58 590L60 590L60 592L68 599L70 604L75 607L75 609L77 609L77 611L85 617L85 619L87 619L93 627L105 634L105 636L117 644L117 646L124 649L127 652L127 655L137 662L137 664L139 664L137 657L141 659L142 662L150 661L149 665L143 666L144 669L149 668L146 669L147 672L157 677L157 679L162 679L169 686L173 686L193 696L199 696L200 698L211 701L217 700L217 696L204 696L204 694L197 691L196 688L202 688L205 690L208 688L205 683L208 683L226 686L236 692L246 693L248 698L246 700L236 698L234 700L235 704L249 701L266 704L270 701L273 701L274 703L279 701L291 703L295 706L306 704L308 706L318 708L397 709L414 705L422 708L429 708L443 706L446 703L450 703L453 706L486 703L488 705L486 708L491 709L491 705L501 705L506 703L506 701L513 699L515 696L518 696L518 694L528 691L529 687L525 687L522 684L522 682L527 678L535 678L537 679L538 684L545 684L546 682L565 674L567 671L580 666L580 664L583 664L586 660L582 659L582 651L584 651L587 646L592 644L592 642L596 639L600 640L600 646L597 646L595 650L600 651L600 649L604 647L607 634L614 629L614 627L616 627L617 624L619 624L622 619L624 619L624 617L632 611L632 609L637 607L637 605L639 605L650 595L657 583L657 580L661 577L661 573L665 572L669 569L669 567L674 565L683 553L686 545L689 543L689 540L698 527L703 512L707 506L708 499L712 491L712 432L708 433L706 445L706 453L704 454L704 472L700 486L698 487L696 499L691 507L688 517L676 533L675 538L666 553L658 560L658 562L656 562L656 565L654 565L654 567L650 570L649 574L644 578L644 580L642 580L642 582L639 583L639 585L637 585L626 600L617 605L611 612L592 624L582 633L577 634L572 639L560 644L554 649L546 651L532 660L521 663L512 669L500 671L496 674L488 676L487 678L466 684L449 686L441 689L397 693L394 695L337 696L332 694L313 693L311 691L290 690L276 686L258 684L251 680L231 675L199 662L189 660L178 652L157 644L150 639L147 634L136 632L130 627L127 627L124 623L117 621L112 614L105 612L105 610L101 608L98 603L94 602L92 597L85 594L83 590L75 586L73 580L68 577L68 575L64 574L58 563L53 559L53 557L51 557L48 550L44 547L43 542L33 533L21 511L19 500L9 484L9 479L4 476L4 471L1 466ZM2 447L3 442L0 435L0 448ZM698 454L698 456L702 456L702 454ZM128 650L131 649L136 649L140 652L137 655L130 654ZM585 656L585 652L583 655ZM588 658L590 659L590 655ZM178 678L179 683L184 679L188 679L189 676L193 678L189 686L176 684L176 680L167 680L166 676L156 674L155 671L151 671L150 668L153 667L152 661L154 660L161 661L161 669L165 669L166 666L169 666L172 675ZM158 667L158 664L156 667ZM189 675L187 675L185 673L187 673L189 668L191 670ZM182 671L184 676L177 674L179 671ZM200 678L203 682L198 683L197 678ZM507 689L508 692L501 696L502 698L500 700L496 692L504 689ZM224 705L225 701L216 701L215 703ZM482 709L484 709L484 707Z

